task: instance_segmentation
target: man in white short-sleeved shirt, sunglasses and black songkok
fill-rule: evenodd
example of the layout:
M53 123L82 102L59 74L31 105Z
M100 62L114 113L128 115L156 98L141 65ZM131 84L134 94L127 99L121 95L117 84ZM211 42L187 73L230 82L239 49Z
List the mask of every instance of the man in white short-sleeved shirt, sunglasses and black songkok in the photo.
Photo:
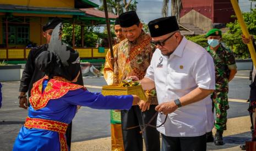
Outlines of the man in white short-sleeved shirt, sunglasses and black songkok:
M159 105L155 109L161 112L157 125L168 116L157 128L162 150L206 150L210 119L206 106L215 89L213 58L181 35L175 16L150 21L148 26L151 44L157 49L140 83L144 90L156 88ZM147 107L140 108L144 111Z

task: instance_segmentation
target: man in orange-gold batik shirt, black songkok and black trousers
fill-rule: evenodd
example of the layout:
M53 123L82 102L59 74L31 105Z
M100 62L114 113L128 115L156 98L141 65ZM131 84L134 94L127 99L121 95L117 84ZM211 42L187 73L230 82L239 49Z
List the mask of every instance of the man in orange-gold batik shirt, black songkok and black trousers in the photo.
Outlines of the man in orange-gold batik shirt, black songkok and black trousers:
M118 44L115 53L117 60L114 81L116 84L120 84L122 80L132 75L143 79L155 50L155 47L150 44L151 37L143 31L143 24L135 11L121 14L119 22L126 39ZM146 96L148 101L140 101L139 106L121 111L123 145L126 151L142 151L143 138L146 151L160 151L160 136L154 127L156 118L150 123L153 126L146 127L141 133L145 124L148 124L157 113L155 107L158 102L155 89L146 92Z

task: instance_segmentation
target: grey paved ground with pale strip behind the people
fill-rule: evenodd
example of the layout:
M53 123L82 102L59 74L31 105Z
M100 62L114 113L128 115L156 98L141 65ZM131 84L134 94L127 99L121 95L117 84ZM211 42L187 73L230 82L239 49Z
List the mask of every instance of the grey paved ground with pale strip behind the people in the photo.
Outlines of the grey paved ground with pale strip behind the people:
M250 81L248 71L239 71L230 83L230 109L224 146L208 143L208 150L240 150L239 144L250 139L247 112ZM101 78L84 78L86 85L105 85ZM0 109L0 150L12 150L27 111L18 107L19 82L3 82L3 106ZM100 89L88 88L90 91ZM236 100L239 99L239 100ZM235 101L235 102L233 102ZM72 150L110 150L110 114L106 110L82 107L73 120Z

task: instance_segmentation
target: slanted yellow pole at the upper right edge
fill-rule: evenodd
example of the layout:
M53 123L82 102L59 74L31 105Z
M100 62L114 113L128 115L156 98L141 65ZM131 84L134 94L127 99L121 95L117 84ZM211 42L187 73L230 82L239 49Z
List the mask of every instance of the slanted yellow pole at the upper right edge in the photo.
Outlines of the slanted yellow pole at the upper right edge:
M237 17L237 21L239 22L239 25L242 28L242 32L244 34L244 36L246 36L247 38L250 36L248 29L246 27L246 23L243 20L243 15L241 13L241 10L239 8L238 2L237 0L231 0L231 3L233 5L233 9L235 10L236 13L236 17ZM256 53L255 53L255 49L253 47L253 43L252 40L250 39L250 43L247 44L249 52L250 52L250 56L252 57L253 60L253 64L256 67Z

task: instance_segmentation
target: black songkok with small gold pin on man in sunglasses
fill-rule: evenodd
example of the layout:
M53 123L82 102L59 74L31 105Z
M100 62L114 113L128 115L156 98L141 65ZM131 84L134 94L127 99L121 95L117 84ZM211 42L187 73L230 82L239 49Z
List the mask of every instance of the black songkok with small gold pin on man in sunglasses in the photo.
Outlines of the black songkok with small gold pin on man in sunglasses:
M159 37L179 30L176 16L152 20L149 22L148 26L151 37Z

